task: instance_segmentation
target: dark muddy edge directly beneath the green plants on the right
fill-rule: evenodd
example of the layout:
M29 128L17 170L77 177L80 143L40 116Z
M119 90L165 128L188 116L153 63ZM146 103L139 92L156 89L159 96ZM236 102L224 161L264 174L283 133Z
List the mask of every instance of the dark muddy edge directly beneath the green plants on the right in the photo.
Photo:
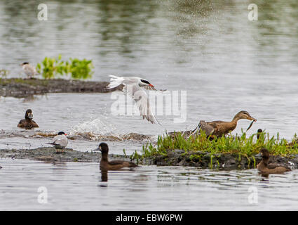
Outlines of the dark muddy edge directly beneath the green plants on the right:
M245 157L237 153L210 155L210 153L196 152L184 153L184 150L168 150L168 155L152 156L142 160L143 165L158 166L187 166L213 169L253 169L262 160L260 156ZM298 155L281 157L272 155L269 163L286 165L298 169Z

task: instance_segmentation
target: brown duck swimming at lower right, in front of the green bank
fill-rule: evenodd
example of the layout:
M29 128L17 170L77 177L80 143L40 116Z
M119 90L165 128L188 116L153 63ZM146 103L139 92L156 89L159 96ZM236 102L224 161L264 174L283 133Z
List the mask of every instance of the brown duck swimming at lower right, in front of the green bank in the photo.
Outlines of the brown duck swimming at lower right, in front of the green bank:
M259 169L261 174L283 174L284 172L291 170L275 163L269 164L269 151L266 148L262 148L260 154L262 156L262 161L257 165L257 169Z

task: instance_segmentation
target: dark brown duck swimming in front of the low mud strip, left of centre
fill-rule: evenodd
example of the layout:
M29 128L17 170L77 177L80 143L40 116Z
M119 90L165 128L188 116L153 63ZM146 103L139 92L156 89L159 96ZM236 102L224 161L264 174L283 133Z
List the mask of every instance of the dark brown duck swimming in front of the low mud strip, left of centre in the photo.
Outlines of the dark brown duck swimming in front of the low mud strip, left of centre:
M98 146L97 149L102 152L102 159L100 160L100 170L107 171L107 170L118 170L122 169L124 167L137 167L135 163L123 161L123 160L108 160L108 153L109 153L109 147L107 146L107 143L100 143L100 146Z

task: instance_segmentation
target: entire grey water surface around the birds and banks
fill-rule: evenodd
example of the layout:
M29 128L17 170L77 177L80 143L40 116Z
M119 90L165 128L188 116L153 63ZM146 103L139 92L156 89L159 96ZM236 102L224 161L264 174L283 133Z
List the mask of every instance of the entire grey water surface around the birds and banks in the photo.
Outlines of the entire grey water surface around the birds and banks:
M199 120L231 120L240 110L262 128L291 139L298 125L298 3L254 1L259 20L248 20L251 1L109 0L48 1L48 21L37 20L43 1L0 2L0 68L24 77L24 61L44 57L93 60L93 80L107 75L140 76L157 89L187 91L187 120L158 115L150 124L136 113L111 115L111 94L47 94L0 98L0 148L37 148L50 138L36 132L81 136L75 150L94 149L96 136L130 132L156 138L167 131L194 129ZM39 129L16 126L32 108ZM233 134L250 122L241 120ZM107 141L111 153L142 149L148 140ZM255 169L217 172L188 167L142 167L111 172L102 184L97 164L51 165L0 160L1 210L297 210L297 172L267 181ZM47 186L47 205L36 203ZM257 186L259 203L248 204Z

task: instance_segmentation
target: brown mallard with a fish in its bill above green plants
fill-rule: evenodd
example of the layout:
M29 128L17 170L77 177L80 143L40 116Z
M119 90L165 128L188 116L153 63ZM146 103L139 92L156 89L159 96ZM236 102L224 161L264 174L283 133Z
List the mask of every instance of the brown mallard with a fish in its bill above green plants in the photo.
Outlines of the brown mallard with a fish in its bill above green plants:
M198 124L198 127L192 131L192 133L195 133L198 131L205 131L207 136L214 135L214 136L222 136L229 134L230 131L233 131L236 126L238 120L246 119L246 120L252 120L252 122L256 122L257 120L252 117L247 111L240 111L237 113L231 122L225 122L225 121L212 121L212 122L205 122L204 120L201 120ZM252 124L250 124L251 127ZM248 129L250 128L248 127Z

